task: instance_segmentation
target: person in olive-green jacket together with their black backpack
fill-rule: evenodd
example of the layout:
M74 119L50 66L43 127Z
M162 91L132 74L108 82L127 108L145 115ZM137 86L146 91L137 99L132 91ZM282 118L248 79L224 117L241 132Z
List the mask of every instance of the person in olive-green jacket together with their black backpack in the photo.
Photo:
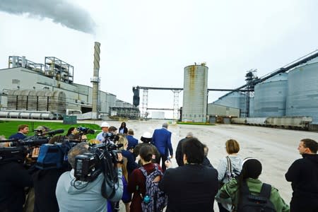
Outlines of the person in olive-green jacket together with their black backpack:
M232 204L231 211L237 212L288 212L289 206L278 193L278 189L259 180L261 163L254 158L245 158L242 171L216 194L220 203Z

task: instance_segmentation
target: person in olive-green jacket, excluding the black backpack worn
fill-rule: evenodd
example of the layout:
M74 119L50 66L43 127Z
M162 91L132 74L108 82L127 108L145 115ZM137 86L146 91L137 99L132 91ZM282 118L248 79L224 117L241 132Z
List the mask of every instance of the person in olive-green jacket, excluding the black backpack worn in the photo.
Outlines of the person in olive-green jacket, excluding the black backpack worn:
M242 171L237 179L232 179L221 187L216 194L216 200L220 203L232 204L231 211L240 211L240 203L242 202L243 184L247 184L249 192L252 195L259 195L263 182L259 180L261 175L261 162L255 158L245 158L242 163ZM271 195L269 201L273 204L277 212L288 212L289 206L285 204L283 198L278 193L278 189L271 187Z

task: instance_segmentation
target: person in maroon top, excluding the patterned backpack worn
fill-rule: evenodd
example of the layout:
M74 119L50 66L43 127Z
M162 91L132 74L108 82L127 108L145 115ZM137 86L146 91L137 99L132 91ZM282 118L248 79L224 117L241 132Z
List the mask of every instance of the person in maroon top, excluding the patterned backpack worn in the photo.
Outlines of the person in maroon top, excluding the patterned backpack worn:
M141 158L141 164L148 175L155 170L155 166L157 166L159 170L163 171L160 165L151 162L153 158L153 148L151 148L151 146L141 147L139 155ZM134 194L131 200L130 211L142 211L141 202L143 201L142 196L145 196L146 194L146 177L140 169L134 170L129 176L128 191L131 194Z

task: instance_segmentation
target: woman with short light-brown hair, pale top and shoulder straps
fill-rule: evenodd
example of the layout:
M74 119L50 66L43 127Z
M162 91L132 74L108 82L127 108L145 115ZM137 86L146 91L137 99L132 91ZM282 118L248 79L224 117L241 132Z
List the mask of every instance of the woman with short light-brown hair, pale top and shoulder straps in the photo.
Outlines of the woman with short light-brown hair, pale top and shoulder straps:
M242 168L242 158L237 155L240 151L240 144L234 140L229 139L225 142L225 149L228 155L220 160L218 164L218 183L219 188L223 184L230 182L232 178L236 178L240 175ZM220 212L226 212L230 210L232 205L218 203Z

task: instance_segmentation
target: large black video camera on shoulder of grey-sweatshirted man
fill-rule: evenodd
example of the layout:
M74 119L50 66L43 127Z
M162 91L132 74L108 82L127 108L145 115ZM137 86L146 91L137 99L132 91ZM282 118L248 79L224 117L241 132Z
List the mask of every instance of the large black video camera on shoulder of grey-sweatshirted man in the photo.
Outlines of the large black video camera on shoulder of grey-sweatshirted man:
M112 173L111 177L114 177L114 167L117 163L122 163L117 156L117 153L121 153L120 147L122 145L100 143L91 147L90 153L76 155L74 168L76 180L93 182L101 172L104 172L104 175Z

